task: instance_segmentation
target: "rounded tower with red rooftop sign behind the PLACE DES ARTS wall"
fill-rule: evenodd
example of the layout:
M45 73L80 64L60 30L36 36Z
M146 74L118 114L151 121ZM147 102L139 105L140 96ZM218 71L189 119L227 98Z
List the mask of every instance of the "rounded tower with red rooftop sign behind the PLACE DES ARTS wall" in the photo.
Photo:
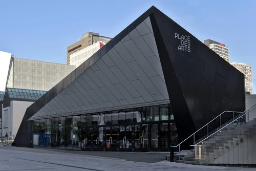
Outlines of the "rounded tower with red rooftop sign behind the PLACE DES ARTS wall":
M204 44L208 46L211 50L216 52L218 55L220 55L220 57L229 62L228 48L224 44L221 44L220 42L211 39L204 40Z

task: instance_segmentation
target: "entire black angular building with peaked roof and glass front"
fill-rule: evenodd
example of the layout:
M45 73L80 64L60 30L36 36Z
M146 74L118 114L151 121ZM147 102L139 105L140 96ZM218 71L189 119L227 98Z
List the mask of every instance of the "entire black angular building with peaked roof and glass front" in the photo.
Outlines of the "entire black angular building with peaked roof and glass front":
M168 151L244 110L244 75L153 6L34 102L14 144Z

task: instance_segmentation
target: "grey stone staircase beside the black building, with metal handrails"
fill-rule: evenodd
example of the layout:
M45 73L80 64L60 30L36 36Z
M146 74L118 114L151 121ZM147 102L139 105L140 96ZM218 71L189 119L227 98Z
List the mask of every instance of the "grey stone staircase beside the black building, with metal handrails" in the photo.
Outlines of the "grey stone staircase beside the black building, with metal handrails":
M197 146L197 150L177 153L176 162L209 164L256 164L256 119L231 123ZM201 155L199 156L199 148ZM196 155L197 154L197 155Z

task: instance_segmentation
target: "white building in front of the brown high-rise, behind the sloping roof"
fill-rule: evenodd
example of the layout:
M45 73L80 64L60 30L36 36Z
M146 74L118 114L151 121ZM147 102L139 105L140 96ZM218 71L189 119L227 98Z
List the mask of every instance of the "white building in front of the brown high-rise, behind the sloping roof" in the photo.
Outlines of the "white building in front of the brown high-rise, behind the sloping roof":
M93 45L83 48L73 54L70 55L70 65L80 66L82 62L86 61L89 57L91 57L95 52L97 52L100 48L105 45L105 42L95 42Z

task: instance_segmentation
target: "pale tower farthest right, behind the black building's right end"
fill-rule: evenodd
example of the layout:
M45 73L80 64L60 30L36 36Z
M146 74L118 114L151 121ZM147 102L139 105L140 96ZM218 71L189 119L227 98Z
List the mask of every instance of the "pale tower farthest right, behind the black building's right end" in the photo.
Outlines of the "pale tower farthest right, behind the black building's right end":
M232 62L230 64L244 74L245 92L252 94L252 67L238 62Z

